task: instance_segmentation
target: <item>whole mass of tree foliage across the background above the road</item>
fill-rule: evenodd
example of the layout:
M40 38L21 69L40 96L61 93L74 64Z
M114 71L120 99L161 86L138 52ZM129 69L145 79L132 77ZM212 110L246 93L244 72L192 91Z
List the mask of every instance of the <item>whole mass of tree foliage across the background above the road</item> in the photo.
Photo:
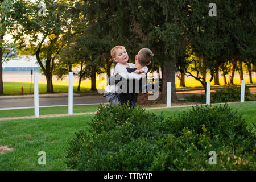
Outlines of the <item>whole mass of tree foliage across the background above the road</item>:
M148 67L162 70L162 101L166 101L167 82L172 82L172 100L176 100L178 67L204 88L207 73L210 81L220 70L234 75L241 61L255 70L252 0L217 0L217 16L209 16L207 0L47 0L46 16L40 18L39 2L15 0L12 27L19 48L30 48L36 55L48 91L53 91L53 70L60 77L74 67L81 68L81 78L94 80L101 72L110 76L110 49L117 45L126 47L131 62L139 49L152 50L155 56Z

